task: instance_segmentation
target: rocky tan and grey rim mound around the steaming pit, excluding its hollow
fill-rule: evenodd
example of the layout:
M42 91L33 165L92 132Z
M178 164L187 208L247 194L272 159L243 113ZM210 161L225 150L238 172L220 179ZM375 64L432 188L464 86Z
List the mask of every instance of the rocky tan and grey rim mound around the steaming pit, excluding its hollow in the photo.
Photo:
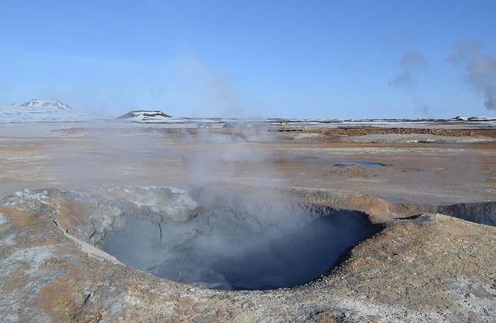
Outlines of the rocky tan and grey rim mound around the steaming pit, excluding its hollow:
M94 247L100 233L90 231L110 227L122 212L102 196L123 192L97 188L79 192L81 199L45 189L1 200L2 322L492 322L496 316L496 228L473 222L494 221L494 203L439 209L289 189L295 203L364 211L383 230L303 286L222 291L156 278ZM464 208L479 216L461 219ZM434 211L451 216L424 213Z

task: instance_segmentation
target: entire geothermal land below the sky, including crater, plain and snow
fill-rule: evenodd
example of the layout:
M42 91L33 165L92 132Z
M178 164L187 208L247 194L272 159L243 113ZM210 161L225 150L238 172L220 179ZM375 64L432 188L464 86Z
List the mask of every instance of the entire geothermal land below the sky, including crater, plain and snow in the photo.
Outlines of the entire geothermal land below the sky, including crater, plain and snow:
M0 107L1 322L494 322L496 119L50 109Z

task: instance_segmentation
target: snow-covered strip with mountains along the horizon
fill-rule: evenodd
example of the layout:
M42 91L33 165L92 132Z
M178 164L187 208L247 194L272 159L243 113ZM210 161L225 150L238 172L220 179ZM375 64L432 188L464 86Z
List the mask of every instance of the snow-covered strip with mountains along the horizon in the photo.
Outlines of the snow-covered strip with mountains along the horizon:
M26 123L84 123L101 124L153 124L153 127L171 128L221 128L221 127L256 127L256 126L295 126L319 128L336 128L350 126L373 127L407 127L424 128L459 128L477 129L496 127L496 117L453 117L451 119L226 119L226 118L190 118L171 117L159 110L135 110L127 114L110 112L91 112L74 110L59 100L33 99L22 105L0 105L0 127L6 124ZM129 127L129 126L128 126Z

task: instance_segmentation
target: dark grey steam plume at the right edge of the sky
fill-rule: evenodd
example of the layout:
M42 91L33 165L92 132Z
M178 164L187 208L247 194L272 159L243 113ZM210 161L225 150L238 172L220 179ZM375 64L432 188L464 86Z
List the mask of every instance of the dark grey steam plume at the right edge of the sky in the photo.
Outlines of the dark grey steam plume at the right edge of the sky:
M483 93L487 110L496 110L496 59L482 54L480 41L463 42L453 48L448 61L463 71L476 93Z

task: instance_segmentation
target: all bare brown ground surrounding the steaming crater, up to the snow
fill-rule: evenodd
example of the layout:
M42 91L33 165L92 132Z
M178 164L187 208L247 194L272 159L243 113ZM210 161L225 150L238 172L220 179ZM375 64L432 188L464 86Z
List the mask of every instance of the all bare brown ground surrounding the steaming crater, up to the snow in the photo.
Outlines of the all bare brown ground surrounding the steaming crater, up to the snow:
M2 322L493 322L496 315L496 229L474 223L496 216L495 129L58 125L1 134L0 196L56 189L0 204ZM84 230L101 220L103 206L60 192L205 182L293 187L295 201L365 211L384 229L312 283L211 290L155 278L92 247ZM471 221L451 216L458 211Z

